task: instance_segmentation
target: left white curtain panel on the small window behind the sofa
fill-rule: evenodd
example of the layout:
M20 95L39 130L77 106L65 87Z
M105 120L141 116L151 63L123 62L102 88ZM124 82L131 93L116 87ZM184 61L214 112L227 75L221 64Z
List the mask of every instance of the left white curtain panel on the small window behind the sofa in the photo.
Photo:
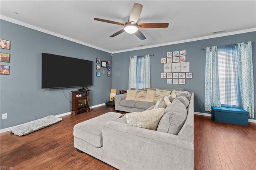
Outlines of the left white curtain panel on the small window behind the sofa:
M137 56L130 57L128 89L136 88Z

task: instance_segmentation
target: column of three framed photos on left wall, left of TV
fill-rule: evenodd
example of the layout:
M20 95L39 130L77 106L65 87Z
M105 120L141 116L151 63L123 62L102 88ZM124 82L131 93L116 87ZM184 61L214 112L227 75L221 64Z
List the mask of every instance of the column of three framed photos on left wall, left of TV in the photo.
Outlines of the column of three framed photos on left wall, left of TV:
M0 39L0 48L10 50L10 41ZM0 62L10 63L10 54L0 52ZM0 65L0 74L10 75L10 65Z

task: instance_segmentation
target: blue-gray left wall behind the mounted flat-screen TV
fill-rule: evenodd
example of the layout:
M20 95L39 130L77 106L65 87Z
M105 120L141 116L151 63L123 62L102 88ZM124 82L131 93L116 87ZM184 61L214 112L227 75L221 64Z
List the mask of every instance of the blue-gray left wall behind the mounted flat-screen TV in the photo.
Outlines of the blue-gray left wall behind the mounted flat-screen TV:
M64 93L62 89L41 89L42 52L93 61L90 106L109 100L112 79L106 73L96 77L96 58L111 61L110 53L4 20L0 24L1 39L11 42L10 50L0 49L10 53L10 63L1 62L10 66L10 75L0 75L1 129L71 111L71 91L78 87L64 88ZM78 74L82 78L86 73ZM7 119L2 119L3 113L8 113Z

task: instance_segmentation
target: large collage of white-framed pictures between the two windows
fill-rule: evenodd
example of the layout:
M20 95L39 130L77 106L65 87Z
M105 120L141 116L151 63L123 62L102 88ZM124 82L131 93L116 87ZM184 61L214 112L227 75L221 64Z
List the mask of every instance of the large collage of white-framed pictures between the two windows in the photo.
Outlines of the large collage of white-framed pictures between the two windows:
M164 73L161 78L166 79L167 84L185 84L186 79L192 79L190 62L186 61L186 50L167 52L166 58L161 58L164 65Z

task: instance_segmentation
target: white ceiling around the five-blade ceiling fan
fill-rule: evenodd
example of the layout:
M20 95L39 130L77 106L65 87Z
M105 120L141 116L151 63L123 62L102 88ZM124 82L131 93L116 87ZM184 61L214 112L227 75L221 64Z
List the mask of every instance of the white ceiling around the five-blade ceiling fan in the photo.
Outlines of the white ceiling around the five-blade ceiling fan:
M125 23L135 2L143 5L138 23L168 22L169 27L141 28L146 40L126 32L109 38L123 26L94 20ZM0 6L3 20L110 53L256 31L255 0L1 0ZM213 34L220 30L226 32Z

